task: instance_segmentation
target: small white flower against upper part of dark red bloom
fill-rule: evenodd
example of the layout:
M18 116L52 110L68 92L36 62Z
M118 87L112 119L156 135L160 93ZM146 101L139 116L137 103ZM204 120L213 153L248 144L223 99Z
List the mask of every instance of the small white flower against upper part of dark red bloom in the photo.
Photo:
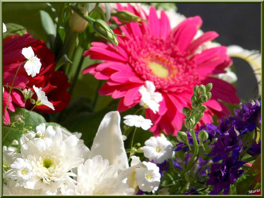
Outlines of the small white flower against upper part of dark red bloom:
M27 58L27 62L24 65L24 68L27 74L32 77L35 77L36 74L40 73L41 62L40 59L35 56L35 53L31 47L23 48L22 54Z

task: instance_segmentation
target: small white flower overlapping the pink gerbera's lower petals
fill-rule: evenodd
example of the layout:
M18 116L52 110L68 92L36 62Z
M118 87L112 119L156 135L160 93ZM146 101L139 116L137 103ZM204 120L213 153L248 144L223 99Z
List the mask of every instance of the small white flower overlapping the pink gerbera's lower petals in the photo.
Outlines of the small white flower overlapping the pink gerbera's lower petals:
M142 85L139 88L141 94L140 105L150 108L154 113L158 112L159 102L162 101L162 95L156 91L156 87L153 82L145 81L145 86Z

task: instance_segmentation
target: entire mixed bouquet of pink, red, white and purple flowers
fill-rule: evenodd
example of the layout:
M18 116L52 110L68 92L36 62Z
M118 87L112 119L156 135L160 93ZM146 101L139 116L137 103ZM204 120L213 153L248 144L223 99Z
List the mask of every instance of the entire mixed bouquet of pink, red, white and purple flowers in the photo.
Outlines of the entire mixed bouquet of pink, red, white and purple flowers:
M172 3L39 5L45 42L2 23L3 195L261 195L259 52Z

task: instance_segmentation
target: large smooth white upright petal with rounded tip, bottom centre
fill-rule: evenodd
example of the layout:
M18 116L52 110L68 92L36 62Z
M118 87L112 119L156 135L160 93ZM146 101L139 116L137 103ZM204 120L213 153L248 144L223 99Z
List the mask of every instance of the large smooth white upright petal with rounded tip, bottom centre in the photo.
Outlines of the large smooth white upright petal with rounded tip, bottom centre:
M128 168L118 111L108 112L103 118L94 138L89 158L95 155L108 159L109 164L115 164L119 170Z

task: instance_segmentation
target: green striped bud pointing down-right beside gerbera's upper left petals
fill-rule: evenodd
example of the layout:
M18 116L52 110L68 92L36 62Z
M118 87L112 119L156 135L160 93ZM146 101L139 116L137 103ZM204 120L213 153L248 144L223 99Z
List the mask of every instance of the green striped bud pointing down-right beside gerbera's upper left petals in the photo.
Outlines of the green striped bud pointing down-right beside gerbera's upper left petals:
M109 42L111 42L114 45L118 45L118 40L113 33L112 29L109 28L106 21L103 21L102 19L97 19L95 22L93 22L94 30L97 34L107 39Z

